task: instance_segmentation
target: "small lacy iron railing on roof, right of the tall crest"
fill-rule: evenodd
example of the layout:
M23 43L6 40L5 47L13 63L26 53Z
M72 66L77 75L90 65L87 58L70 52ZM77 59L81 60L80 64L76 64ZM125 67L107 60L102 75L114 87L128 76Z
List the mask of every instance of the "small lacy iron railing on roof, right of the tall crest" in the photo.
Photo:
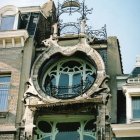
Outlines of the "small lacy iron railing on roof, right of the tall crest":
M99 30L87 29L86 34L88 35L88 41L91 43L96 40L107 40L106 25Z

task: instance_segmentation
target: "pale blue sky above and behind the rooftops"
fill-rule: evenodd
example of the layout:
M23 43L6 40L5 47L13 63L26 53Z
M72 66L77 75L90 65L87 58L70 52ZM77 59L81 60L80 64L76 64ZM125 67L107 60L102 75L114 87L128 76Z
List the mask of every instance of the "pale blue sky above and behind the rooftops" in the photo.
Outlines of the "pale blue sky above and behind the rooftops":
M79 0L82 1L82 0ZM5 5L41 6L47 0L1 0ZM57 0L54 0L57 4ZM59 0L63 2L63 0ZM93 29L107 26L108 36L117 36L121 47L123 70L132 72L136 56L140 56L140 0L85 0L88 8L93 8L88 16L88 25Z

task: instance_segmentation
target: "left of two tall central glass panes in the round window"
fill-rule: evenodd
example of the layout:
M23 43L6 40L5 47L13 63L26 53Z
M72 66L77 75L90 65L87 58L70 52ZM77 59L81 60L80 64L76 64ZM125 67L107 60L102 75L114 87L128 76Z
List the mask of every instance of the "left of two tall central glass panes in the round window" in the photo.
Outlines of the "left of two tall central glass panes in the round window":
M60 74L59 78L59 95L63 96L63 94L68 94L68 88L69 88L69 75L68 74Z

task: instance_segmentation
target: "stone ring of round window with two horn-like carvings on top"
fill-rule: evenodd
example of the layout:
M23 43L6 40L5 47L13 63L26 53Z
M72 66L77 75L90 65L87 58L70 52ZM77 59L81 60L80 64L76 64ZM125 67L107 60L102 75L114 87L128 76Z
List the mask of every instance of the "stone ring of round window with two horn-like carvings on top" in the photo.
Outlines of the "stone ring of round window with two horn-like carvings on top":
M76 97L74 100L91 98L90 96L93 93L95 92L97 93L97 91L103 90L103 88L105 87L100 87L100 86L103 84L103 81L107 77L105 73L105 65L100 54L88 45L86 38L80 38L79 43L75 46L62 47L59 46L57 41L58 40L56 38L53 38L53 36L51 36L47 40L44 40L43 43L48 49L45 50L42 54L40 54L40 56L37 58L36 62L33 65L31 78L33 81L32 83L33 86L36 87L36 92L39 93L37 96L39 96L41 100L43 100L44 102L55 103L61 101L61 99L55 99L53 97L49 97L48 95L45 95L44 92L40 89L38 79L37 79L39 68L43 65L44 61L47 61L52 55L61 53L64 56L71 56L77 51L85 53L85 55L87 55L90 58L90 60L92 60L96 64L98 71L97 71L97 77L95 83L91 86L91 88L85 94ZM69 102L69 101L70 100L65 100L65 101L63 100L63 102Z

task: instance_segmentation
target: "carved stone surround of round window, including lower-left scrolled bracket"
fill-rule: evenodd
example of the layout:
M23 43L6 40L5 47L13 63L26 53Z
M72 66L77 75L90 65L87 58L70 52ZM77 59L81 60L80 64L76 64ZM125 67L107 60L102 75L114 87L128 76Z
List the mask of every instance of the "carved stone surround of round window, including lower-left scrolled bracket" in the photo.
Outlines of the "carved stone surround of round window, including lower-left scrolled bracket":
M36 59L32 72L31 72L31 79L29 80L29 88L25 92L24 101L26 105L37 105L37 104L45 104L45 103L58 103L58 102L70 102L70 101L78 101L78 100L85 100L85 99L91 99L94 94L98 93L98 91L101 91L102 89L107 89L101 87L103 84L103 81L107 78L107 75L105 73L105 66L104 62L100 56L100 54L91 48L85 38L81 38L79 43L75 46L67 46L62 47L59 46L57 43L57 40L53 40L51 37L50 39L44 40L43 43L47 47L46 50L40 54L40 56ZM49 60L51 56L54 56L55 54L62 54L64 57L72 56L76 52L82 52L85 54L91 61L93 61L97 67L97 75L96 79L94 81L94 84L82 95L79 95L72 99L57 99L52 96L46 95L44 91L40 88L39 82L38 82L38 76L39 76L39 70L42 67L42 65L46 62L46 60ZM84 58L83 58L84 59Z

